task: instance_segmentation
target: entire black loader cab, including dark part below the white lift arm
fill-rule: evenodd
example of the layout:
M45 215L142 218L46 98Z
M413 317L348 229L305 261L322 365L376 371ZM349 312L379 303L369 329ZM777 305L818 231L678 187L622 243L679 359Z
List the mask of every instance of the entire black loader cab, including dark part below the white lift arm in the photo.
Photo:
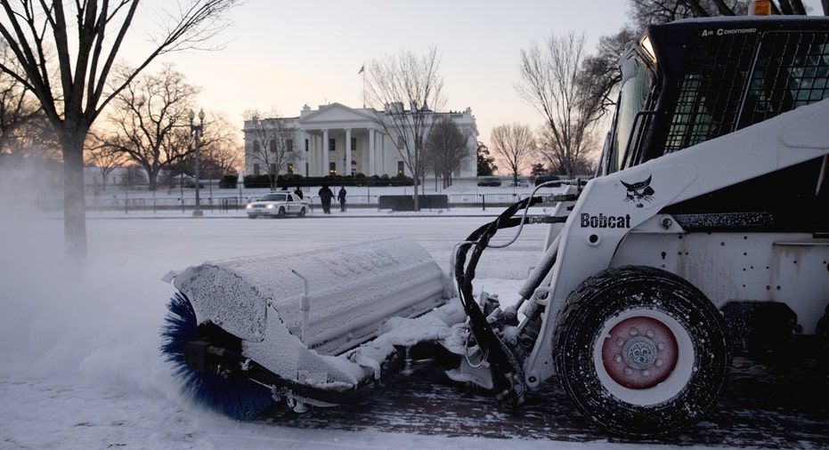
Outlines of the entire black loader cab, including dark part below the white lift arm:
M598 175L829 98L829 20L708 18L651 26L620 65L622 84ZM763 212L767 230L826 232L829 219L817 212L829 205L827 165L818 158L663 213Z

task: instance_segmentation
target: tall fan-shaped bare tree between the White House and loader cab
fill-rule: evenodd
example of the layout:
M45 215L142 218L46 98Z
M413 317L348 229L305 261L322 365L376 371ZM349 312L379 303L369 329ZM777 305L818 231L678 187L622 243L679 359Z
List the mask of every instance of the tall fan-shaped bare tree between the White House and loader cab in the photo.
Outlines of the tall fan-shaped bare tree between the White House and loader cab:
M584 35L550 36L546 46L521 51L521 82L516 90L545 120L541 148L572 177L576 162L589 151L590 133L602 117L601 103L581 83Z

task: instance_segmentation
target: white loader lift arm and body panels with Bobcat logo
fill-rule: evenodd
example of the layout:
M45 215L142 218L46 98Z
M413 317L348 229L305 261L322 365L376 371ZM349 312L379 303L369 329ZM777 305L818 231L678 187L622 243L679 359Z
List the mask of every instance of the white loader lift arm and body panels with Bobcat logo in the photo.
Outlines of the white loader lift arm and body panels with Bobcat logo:
M829 240L811 235L771 235L759 242L752 237L751 243L740 243L744 240L742 236L730 237L735 242L722 244L713 243L711 237L680 243L676 236L681 236L683 230L677 221L660 215L659 211L687 198L829 154L826 124L829 124L829 100L589 181L561 231L560 244L549 250L557 253L558 263L549 274L549 284L541 287L542 292L550 292L543 300L549 308L540 339L531 358L524 363L527 385L538 386L555 374L555 365L550 360L554 317L583 280L606 267L635 263L667 269L691 281L720 305L737 299L780 299L791 304L792 309L801 310L803 316L799 314L799 317L809 317L805 325L813 331L820 314L809 313L822 310L825 307L822 301L829 293L829 274L825 270ZM629 189L625 184L647 180L650 180L648 187L653 190L652 195L632 200L627 197ZM662 242L666 240L663 235L672 236L671 245ZM738 260L722 256L729 256L727 252L743 253L740 250L748 253L746 244L752 247L750 254L755 255L754 262L748 264L756 268L751 270L753 275L727 277L735 270L742 273L745 265L738 266ZM688 255L680 254L680 248ZM788 255L784 259L797 261L794 252L807 259L791 265L781 260ZM665 253L664 260L662 253ZM772 269L760 269L765 264L773 264L768 266ZM743 285L741 280L749 287L737 289L736 283ZM778 289L781 284L809 284L809 287L806 295L799 286L797 294L790 296L782 288ZM817 301L819 297L822 301Z

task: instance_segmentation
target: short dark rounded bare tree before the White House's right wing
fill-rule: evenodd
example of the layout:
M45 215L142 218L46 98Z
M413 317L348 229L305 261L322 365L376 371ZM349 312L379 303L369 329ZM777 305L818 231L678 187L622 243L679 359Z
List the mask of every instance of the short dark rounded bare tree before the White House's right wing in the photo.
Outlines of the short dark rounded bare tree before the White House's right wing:
M451 117L442 115L429 135L426 148L427 166L443 180L443 188L452 184L452 173L466 164L469 158L471 133L464 132Z

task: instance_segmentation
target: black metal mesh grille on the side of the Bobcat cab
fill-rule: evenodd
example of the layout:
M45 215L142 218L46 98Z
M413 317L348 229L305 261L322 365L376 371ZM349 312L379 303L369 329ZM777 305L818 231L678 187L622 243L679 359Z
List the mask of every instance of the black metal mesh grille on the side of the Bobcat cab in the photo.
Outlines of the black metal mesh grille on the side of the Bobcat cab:
M829 97L823 32L701 38L689 44L682 66L679 93L668 108L665 153Z

